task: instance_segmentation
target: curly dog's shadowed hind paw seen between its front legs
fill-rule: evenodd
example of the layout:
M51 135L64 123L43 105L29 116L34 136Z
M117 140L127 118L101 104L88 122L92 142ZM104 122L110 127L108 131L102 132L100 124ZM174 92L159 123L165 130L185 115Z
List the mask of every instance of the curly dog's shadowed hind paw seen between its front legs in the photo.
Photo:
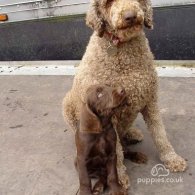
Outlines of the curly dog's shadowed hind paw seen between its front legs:
M139 129L130 129L123 139L127 145L137 144L144 139L144 135Z

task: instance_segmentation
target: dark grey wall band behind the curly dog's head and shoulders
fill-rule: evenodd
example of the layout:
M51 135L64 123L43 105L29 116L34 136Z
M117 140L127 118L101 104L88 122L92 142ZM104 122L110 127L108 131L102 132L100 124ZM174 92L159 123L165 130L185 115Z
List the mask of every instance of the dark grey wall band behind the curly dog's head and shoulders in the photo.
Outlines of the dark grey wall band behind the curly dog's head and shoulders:
M154 8L147 31L158 60L195 60L195 5ZM0 25L2 60L80 60L91 35L84 17Z

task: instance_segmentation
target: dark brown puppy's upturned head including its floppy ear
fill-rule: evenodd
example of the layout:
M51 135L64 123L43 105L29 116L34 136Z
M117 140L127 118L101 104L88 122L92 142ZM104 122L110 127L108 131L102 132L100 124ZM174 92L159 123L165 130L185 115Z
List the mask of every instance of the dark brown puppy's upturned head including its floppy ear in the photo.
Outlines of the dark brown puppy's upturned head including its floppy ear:
M113 110L126 98L125 90L106 85L93 85L87 90L86 103L81 109L80 129L85 132L102 131L101 118L111 117Z

